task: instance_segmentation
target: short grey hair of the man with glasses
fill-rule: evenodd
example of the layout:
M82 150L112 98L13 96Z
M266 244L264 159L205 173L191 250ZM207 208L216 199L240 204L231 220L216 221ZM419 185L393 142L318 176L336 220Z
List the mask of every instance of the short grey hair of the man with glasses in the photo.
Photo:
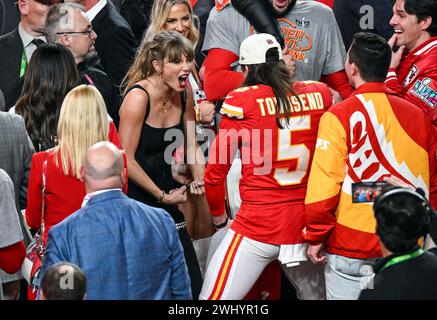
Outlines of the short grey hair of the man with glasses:
M60 3L50 8L47 13L45 36L49 43L58 41L59 32L73 31L73 12L85 12L84 7L77 3Z

